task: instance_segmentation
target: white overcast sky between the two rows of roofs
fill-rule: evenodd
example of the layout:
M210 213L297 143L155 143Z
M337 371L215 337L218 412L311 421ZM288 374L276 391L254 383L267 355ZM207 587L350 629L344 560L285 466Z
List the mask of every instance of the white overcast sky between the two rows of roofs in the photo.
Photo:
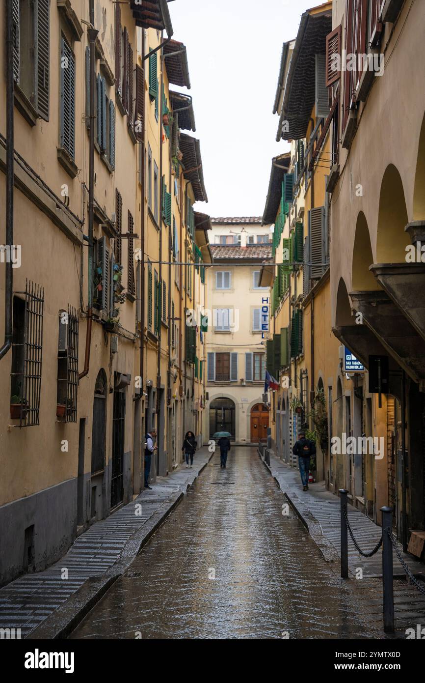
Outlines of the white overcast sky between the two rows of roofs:
M175 40L188 64L211 216L262 216L276 142L272 114L282 42L297 35L302 13L319 0L175 0ZM179 89L172 86L175 89ZM181 92L185 89L180 88Z

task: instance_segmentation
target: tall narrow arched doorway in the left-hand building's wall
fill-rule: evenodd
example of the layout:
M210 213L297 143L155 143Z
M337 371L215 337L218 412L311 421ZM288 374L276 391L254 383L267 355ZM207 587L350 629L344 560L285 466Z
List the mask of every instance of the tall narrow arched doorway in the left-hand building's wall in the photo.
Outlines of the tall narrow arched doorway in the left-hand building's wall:
M104 516L103 481L105 471L107 389L106 372L101 368L94 387L93 421L91 427L91 520L101 519Z

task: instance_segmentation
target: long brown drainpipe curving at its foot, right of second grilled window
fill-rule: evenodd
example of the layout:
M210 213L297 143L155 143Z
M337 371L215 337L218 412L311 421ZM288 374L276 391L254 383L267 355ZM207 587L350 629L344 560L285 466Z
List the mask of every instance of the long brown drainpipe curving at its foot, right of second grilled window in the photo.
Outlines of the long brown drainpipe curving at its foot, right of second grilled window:
M85 337L84 370L78 375L78 380L89 374L91 349L91 324L93 320L93 213L94 213L94 124L95 87L96 87L96 56L95 41L99 31L94 26L94 0L90 0L90 23L87 31L90 44L90 128L89 128L89 263L87 274L87 329Z

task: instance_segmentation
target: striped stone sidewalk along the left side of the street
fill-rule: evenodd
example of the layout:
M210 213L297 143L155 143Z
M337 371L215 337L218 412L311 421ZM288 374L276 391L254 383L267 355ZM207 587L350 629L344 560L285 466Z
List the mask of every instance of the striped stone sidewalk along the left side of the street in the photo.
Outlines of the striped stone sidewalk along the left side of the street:
M96 591L105 591L116 576L120 575L136 557L141 547L156 531L193 484L201 470L208 464L207 447L196 453L192 469L179 466L168 477L158 477L152 490L143 490L131 503L82 533L66 553L53 566L43 572L25 574L0 589L0 628L20 628L22 637L34 637L33 631L47 617L72 600L69 614L57 620L57 627L40 630L40 637L53 637L55 628L60 631L73 609L84 609L85 600L93 600ZM134 514L134 506L141 505ZM68 579L63 579L63 568L68 569ZM96 578L102 577L101 581ZM75 594L87 581L91 588L78 600ZM68 603L67 603L68 604Z

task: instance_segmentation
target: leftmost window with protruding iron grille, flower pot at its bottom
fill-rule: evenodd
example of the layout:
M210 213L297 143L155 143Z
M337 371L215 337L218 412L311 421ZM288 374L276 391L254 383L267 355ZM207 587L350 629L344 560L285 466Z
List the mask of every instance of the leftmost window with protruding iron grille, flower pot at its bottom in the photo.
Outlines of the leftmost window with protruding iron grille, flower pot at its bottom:
M44 288L28 281L13 301L10 417L19 427L40 424Z

